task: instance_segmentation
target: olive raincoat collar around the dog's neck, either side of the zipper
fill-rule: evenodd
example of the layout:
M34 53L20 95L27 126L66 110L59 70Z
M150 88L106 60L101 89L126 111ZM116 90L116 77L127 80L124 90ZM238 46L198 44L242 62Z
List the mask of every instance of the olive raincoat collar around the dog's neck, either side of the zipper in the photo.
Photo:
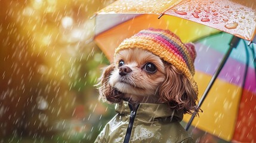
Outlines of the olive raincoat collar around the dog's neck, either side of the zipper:
M129 115L131 113L127 101L123 101L121 104L116 104L115 110L119 114ZM167 104L140 103L137 107L136 117L146 122L152 122L156 118L171 117L171 119L180 122L183 119L183 113L178 112L177 110L172 110Z

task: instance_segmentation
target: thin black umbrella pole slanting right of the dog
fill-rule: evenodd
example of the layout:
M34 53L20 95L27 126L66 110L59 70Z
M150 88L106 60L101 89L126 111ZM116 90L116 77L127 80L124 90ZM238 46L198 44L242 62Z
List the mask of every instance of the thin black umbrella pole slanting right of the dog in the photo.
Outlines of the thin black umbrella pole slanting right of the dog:
M214 75L212 76L210 82L208 83L208 86L205 89L205 92L203 92L203 95L202 95L201 99L198 102L198 106L197 106L198 109L201 107L201 105L202 105L203 101L205 100L208 92L210 91L210 89L211 89L212 85L214 84L215 80L217 79L218 74L220 74L220 71L222 70L223 66L225 65L227 59L229 58L229 55L232 52L232 49L236 48L236 46L238 46L239 40L240 40L240 38L238 38L236 36L233 36L233 38L231 39L231 41L229 43L230 46L229 46L229 49L228 49L227 53L224 55L223 59L221 60L220 65L218 66L217 70L215 71ZM189 122L185 126L186 130L189 130L189 127L192 124L196 114L198 114L197 111L195 111L193 113L192 117L190 117Z

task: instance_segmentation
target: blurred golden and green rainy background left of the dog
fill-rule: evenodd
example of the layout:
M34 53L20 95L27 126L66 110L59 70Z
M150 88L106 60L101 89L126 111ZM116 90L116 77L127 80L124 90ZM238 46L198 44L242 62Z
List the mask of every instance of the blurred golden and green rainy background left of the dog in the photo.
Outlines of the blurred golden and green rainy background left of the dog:
M0 0L0 142L93 142L113 116L90 17L112 1Z

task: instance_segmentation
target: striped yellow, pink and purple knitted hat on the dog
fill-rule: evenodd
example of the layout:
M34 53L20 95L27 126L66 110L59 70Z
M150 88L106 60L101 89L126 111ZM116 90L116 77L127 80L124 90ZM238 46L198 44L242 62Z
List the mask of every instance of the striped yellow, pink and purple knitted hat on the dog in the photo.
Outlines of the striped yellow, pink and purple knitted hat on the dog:
M180 38L169 30L150 28L141 30L131 38L125 39L115 49L115 55L119 51L128 48L146 49L158 55L164 61L171 63L190 80L196 94L198 94L198 86L193 79L195 74L193 63L196 58L196 51L195 46L191 43L182 43Z

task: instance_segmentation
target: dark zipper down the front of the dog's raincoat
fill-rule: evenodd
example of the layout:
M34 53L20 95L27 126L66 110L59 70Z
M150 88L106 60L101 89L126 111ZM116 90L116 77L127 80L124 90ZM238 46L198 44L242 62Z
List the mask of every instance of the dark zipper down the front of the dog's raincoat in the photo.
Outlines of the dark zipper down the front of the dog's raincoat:
M133 126L134 119L135 119L137 109L138 109L138 107L137 107L134 110L134 108L132 108L131 104L128 104L128 105L129 105L129 109L131 110L131 114L130 114L130 117L129 117L129 124L128 124L128 128L127 128L127 133L125 134L124 143L128 143L129 139L131 138L131 130L132 130L132 126Z

